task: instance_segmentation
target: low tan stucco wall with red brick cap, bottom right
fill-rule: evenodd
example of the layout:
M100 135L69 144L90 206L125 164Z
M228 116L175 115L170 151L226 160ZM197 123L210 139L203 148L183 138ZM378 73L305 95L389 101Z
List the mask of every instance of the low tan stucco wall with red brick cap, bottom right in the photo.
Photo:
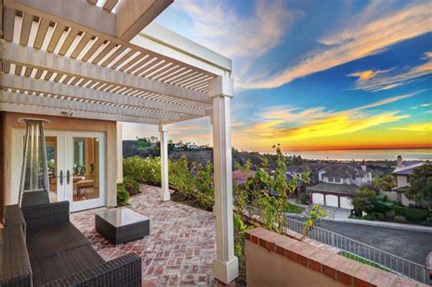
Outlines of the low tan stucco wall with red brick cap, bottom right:
M246 233L248 286L426 286L303 241L257 228Z

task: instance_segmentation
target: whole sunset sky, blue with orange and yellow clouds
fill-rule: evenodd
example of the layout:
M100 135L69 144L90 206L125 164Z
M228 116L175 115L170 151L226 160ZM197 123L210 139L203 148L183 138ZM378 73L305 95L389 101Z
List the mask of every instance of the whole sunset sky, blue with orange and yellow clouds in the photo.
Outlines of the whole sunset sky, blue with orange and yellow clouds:
M178 0L156 22L232 59L236 149L432 148L430 1ZM169 128L211 145L210 118Z

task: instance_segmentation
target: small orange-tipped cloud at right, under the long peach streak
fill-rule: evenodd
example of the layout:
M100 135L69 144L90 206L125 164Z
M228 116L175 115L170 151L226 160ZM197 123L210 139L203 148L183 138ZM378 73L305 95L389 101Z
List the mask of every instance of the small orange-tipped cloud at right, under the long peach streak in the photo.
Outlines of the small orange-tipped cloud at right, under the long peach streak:
M403 86L417 80L419 77L427 76L432 74L432 53L425 53L427 59L426 63L423 63L417 67L409 68L393 68L385 71L372 71L367 70L363 72L356 72L347 75L348 77L358 77L355 81L355 87L357 89L363 89L365 91L381 91L390 89L393 87Z

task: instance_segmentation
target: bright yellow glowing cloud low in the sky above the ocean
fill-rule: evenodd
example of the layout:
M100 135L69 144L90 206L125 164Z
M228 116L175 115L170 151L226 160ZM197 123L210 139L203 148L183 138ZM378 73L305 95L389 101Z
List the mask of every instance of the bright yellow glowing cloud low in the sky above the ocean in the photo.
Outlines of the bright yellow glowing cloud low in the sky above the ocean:
M326 111L323 107L306 109L275 107L273 109L263 109L256 114L257 117L262 118L262 122L240 129L236 137L248 138L260 134L261 138L289 141L351 134L366 128L377 127L409 118L408 115L401 115L398 111L388 111L373 115L366 110L384 106L406 97L413 97L417 94L418 92L388 97L371 104L343 111Z

